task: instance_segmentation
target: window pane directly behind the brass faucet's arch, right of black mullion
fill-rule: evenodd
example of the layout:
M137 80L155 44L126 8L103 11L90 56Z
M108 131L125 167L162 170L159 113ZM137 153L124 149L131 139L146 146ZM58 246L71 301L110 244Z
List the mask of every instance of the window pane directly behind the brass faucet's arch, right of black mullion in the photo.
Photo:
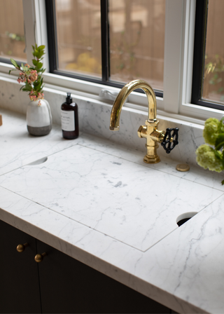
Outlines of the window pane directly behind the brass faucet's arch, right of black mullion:
M109 0L111 80L163 90L165 0Z

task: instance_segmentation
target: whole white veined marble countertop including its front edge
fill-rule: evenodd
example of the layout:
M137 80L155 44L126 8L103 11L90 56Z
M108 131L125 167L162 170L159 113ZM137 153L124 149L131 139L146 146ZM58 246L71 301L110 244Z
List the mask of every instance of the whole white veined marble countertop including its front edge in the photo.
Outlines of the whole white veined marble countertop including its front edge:
M1 220L178 313L224 313L220 176L147 165L93 135L64 140L55 125L31 137L24 116L2 113Z

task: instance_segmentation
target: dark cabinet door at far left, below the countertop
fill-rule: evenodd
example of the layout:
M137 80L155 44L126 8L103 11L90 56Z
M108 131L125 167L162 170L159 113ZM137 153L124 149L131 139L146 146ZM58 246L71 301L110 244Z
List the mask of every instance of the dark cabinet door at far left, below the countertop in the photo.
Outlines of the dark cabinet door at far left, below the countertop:
M36 239L0 220L0 252L0 313L41 313Z

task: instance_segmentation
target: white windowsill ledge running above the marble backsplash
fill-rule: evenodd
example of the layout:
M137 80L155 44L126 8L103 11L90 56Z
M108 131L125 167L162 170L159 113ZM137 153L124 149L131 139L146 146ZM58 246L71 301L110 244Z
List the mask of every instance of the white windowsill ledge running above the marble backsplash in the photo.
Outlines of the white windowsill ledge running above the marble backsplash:
M2 62L0 62L0 79L3 79L4 81L8 81L10 83L17 83L18 75L16 74L16 72L11 72L9 76L8 71L10 69L12 69L12 66L10 64L3 64ZM113 104L112 100L106 100L102 97L99 97L99 93L102 89L109 90L111 93L119 93L120 91L120 88L104 86L97 83L82 81L76 78L69 78L66 76L59 76L50 73L43 74L43 81L45 82L45 88L43 89L47 90L50 93L64 95L64 93L69 91L72 94L75 94L78 98L80 98L80 100L97 102L99 104ZM195 123L197 125L204 125L205 119L199 118L201 116L200 114L197 114L197 111L202 110L202 107L195 104L183 104L185 107L185 111L183 112L183 114L173 114L164 111L163 102L164 100L161 97L157 97L158 116L161 116L165 120L169 121L170 119L174 119L179 123L182 123L184 121L185 123L188 122ZM129 102L126 102L124 106L130 109L147 112L148 102L146 95L132 92L132 94L129 96ZM218 115L218 118L219 116L223 116L223 111L210 108L203 109L207 111L208 118L211 116L212 113L215 113L216 116ZM193 117L192 110L196 111L195 118Z

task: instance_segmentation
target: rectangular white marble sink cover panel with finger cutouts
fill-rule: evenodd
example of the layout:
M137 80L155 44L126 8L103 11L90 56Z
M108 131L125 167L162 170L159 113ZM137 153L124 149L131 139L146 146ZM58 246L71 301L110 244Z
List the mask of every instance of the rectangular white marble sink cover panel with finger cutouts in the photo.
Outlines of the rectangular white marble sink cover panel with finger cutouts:
M81 144L41 161L2 175L0 185L141 251L223 193Z

